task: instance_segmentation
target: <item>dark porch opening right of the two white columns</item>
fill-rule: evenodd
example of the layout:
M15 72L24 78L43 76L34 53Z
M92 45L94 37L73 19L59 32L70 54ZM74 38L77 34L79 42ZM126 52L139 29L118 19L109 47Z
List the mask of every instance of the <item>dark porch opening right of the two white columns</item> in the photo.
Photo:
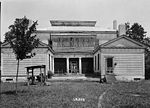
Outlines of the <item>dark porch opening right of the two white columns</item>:
M82 58L82 74L93 74L93 58Z

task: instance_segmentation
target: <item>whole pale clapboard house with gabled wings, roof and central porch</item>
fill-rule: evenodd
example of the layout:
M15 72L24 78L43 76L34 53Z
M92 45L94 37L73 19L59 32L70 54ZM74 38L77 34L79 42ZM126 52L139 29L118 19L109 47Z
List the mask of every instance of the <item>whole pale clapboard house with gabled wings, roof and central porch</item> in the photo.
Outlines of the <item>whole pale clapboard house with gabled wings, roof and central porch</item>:
M29 60L32 62L30 65L44 64L46 70L51 70L54 74L99 73L104 76L114 73L120 80L144 78L145 47L122 36L125 35L124 25L119 25L117 30L115 21L113 29L96 27L96 21L51 20L50 23L49 28L38 29L36 32L37 38L45 47L40 48L38 53L42 54L39 57L37 55L37 58L33 58L36 61ZM10 75L7 65L12 65L14 61L6 57L8 52L5 44L2 45L2 49L2 77L6 77ZM21 66L24 70L27 65L22 63ZM25 70L23 73L26 73Z

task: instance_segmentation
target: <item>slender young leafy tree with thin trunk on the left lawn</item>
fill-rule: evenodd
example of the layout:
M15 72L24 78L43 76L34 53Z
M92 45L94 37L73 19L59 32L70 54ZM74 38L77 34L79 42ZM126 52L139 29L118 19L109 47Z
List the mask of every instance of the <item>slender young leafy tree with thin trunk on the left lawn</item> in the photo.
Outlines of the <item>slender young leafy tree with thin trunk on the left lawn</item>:
M39 39L34 34L37 21L30 26L30 20L26 17L16 18L14 24L9 26L9 31L5 33L5 42L10 43L17 60L16 73L16 93L19 72L19 62L26 58L35 56L32 50L38 46Z

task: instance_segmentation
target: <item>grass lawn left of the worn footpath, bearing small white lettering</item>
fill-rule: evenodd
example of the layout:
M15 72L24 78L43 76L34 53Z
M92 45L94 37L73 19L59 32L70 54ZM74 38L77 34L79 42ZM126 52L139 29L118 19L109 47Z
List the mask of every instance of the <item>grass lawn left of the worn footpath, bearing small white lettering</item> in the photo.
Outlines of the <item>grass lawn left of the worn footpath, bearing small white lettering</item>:
M2 83L0 108L97 108L99 96L110 84L52 82L50 86Z

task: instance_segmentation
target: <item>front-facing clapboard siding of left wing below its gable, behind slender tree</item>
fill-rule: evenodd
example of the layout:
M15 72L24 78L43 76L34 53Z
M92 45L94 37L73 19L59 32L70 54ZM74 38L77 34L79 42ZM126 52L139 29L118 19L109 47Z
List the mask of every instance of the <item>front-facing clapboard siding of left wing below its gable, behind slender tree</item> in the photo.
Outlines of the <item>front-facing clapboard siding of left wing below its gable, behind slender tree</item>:
M19 75L26 75L27 66L33 65L47 65L46 64L46 54L37 54L31 59L25 59L20 61L19 65ZM17 71L17 61L14 54L3 55L3 74L2 76L16 75ZM35 70L39 72L39 70Z

